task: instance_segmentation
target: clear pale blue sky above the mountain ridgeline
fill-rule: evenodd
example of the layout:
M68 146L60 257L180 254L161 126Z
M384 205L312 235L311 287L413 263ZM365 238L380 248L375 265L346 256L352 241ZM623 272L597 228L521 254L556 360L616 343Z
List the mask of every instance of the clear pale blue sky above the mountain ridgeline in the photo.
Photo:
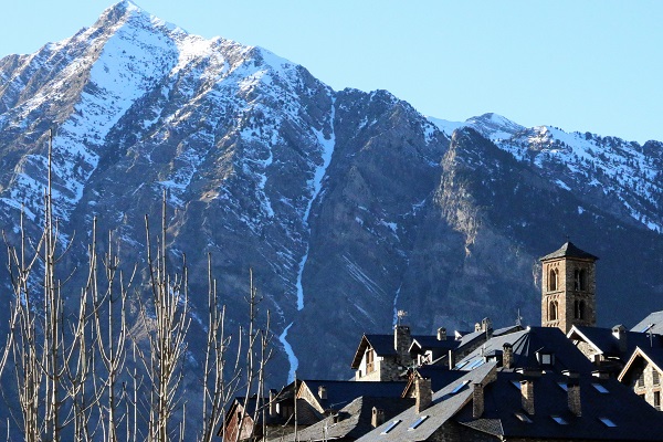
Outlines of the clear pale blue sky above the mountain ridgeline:
M0 0L0 56L88 27L114 0ZM424 115L663 140L663 2L136 0L207 38L260 45L335 90Z

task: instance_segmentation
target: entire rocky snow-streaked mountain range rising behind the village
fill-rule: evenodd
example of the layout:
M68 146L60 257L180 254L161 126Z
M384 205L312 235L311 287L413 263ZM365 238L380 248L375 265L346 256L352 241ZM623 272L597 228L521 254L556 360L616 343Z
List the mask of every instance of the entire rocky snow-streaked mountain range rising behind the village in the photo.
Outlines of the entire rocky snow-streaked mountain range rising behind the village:
M208 253L229 327L245 320L253 267L275 386L297 362L298 376L349 377L361 334L389 329L397 309L418 334L513 324L518 309L539 324L538 256L567 236L601 257L600 325L663 308L660 143L493 114L434 122L124 1L69 40L0 60L0 218L10 240L21 207L39 229L55 126L64 264L86 261L96 217L145 275L145 215L156 231L166 194L168 256L173 269L187 256L194 317Z

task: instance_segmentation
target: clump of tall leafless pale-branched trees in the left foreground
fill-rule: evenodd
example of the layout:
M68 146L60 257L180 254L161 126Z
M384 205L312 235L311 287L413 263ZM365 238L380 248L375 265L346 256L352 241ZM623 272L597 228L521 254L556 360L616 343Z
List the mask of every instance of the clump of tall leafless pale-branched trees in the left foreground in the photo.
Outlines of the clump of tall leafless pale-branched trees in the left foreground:
M13 298L10 330L0 352L0 379L11 377L15 385L15 406L8 408L11 421L29 442L191 439L185 422L187 400L193 397L183 388L191 324L189 275L186 255L179 273L169 266L166 194L154 250L149 219L145 218L145 285L134 284L137 264L125 277L113 233L105 252L98 252L95 218L86 274L78 288L67 290L74 271L62 265L62 256L73 240L65 243L59 233L51 168L52 133L39 239L29 239L23 213L20 244L13 246L4 238ZM262 297L252 271L249 283L248 326L228 334L227 307L217 293L208 254L202 394L201 402L192 408L202 412L198 420L201 427L196 431L200 441L215 436L225 408L240 390L246 398L256 393L256 407L251 412L254 422L259 413L263 425L265 422L265 368L272 355L270 313L261 327L257 307ZM143 297L141 292L149 296ZM76 295L67 297L67 293ZM138 311L131 318L140 325L129 328L128 305L134 294ZM236 438L246 412L244 409Z

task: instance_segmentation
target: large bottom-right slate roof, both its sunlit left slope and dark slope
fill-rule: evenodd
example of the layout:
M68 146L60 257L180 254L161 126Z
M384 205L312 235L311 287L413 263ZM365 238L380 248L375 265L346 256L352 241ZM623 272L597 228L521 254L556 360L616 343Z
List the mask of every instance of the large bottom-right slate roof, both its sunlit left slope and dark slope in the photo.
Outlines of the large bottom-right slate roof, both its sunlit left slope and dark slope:
M498 370L490 376L494 362L485 364L467 371L456 382L433 394L431 407L421 414L414 407L366 434L359 441L425 441L450 420L475 431L494 435L496 439L533 440L582 440L582 441L656 441L663 434L663 420L660 412L625 386L614 379L598 379L581 376L579 379L555 372L546 372L529 378L534 382L534 414L526 414L530 422L516 417L523 413L519 381L522 375ZM493 378L493 381L487 382ZM466 381L466 383L465 383ZM473 418L472 385L484 383L484 413ZM568 409L568 393L564 387L569 382L580 386L581 415ZM516 383L516 385L514 385ZM452 391L464 385L455 394ZM561 385L561 386L560 386ZM602 392L601 390L607 391ZM428 418L415 429L409 428L421 417ZM560 417L567 423L557 423L552 417ZM609 427L601 419L609 419L615 427ZM397 421L388 433L385 430ZM435 434L435 438L440 434Z

